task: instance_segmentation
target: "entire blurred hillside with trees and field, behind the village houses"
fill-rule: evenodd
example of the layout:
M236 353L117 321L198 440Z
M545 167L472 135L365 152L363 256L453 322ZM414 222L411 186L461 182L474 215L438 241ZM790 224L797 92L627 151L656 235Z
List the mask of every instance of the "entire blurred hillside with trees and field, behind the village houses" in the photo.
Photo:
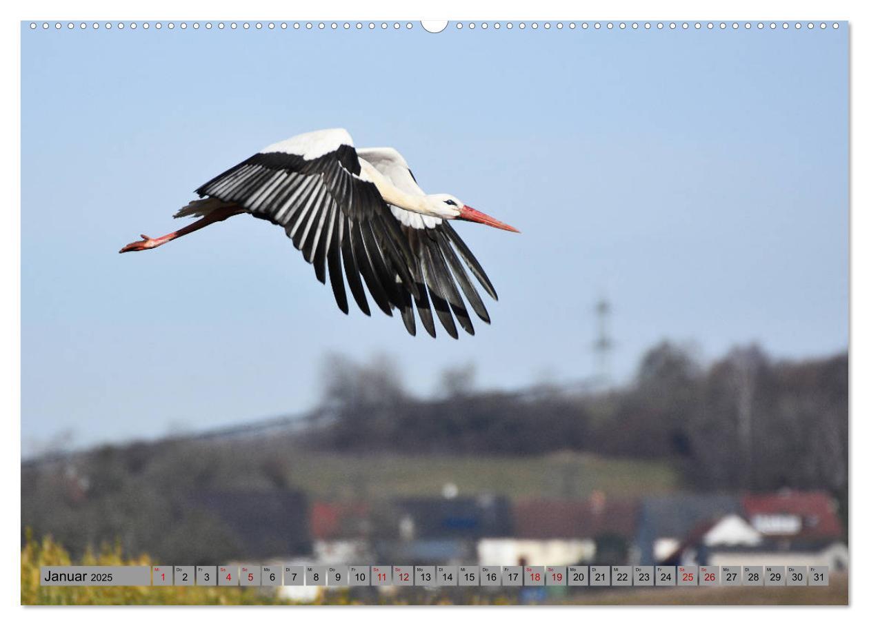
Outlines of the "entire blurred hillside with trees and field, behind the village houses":
M74 557L104 541L165 563L306 554L315 501L363 502L367 536L395 534L395 498L445 485L549 500L820 490L847 520L846 354L784 362L749 346L701 366L662 343L622 388L480 392L466 367L434 399L383 360L335 358L323 379L308 415L26 461L22 532Z

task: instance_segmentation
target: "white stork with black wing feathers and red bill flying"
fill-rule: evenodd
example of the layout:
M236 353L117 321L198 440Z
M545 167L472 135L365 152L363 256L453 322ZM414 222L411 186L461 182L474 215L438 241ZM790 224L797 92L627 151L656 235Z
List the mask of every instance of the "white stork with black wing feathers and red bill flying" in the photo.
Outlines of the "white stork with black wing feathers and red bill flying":
M124 246L136 252L162 246L233 215L249 213L283 227L304 259L348 313L344 274L362 313L370 315L368 293L383 313L401 312L416 334L414 305L432 337L434 317L458 339L453 315L468 333L474 326L459 289L481 320L489 316L461 261L486 293L498 299L480 262L449 225L477 221L517 231L474 210L450 194L425 194L395 148L359 148L343 128L318 130L263 148L196 189L175 217L200 219L174 233ZM461 260L460 260L461 259Z

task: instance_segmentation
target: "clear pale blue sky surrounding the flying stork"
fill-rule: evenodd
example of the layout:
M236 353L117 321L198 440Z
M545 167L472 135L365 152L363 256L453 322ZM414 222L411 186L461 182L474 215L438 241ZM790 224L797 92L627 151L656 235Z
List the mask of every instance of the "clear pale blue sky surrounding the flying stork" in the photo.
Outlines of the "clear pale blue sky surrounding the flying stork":
M847 32L73 30L22 33L22 438L77 445L296 412L323 357L408 389L594 372L612 300L625 380L660 339L705 359L847 346ZM501 300L475 337L351 310L247 216L143 254L192 190L269 143L348 128L459 224ZM441 333L443 334L443 333Z

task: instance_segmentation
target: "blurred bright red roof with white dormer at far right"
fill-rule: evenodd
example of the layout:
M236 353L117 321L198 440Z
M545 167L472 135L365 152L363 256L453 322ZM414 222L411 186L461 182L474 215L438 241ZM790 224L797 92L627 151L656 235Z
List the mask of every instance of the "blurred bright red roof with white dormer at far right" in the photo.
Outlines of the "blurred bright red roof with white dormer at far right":
M833 498L823 491L779 491L744 496L746 519L766 537L839 539L842 523Z

